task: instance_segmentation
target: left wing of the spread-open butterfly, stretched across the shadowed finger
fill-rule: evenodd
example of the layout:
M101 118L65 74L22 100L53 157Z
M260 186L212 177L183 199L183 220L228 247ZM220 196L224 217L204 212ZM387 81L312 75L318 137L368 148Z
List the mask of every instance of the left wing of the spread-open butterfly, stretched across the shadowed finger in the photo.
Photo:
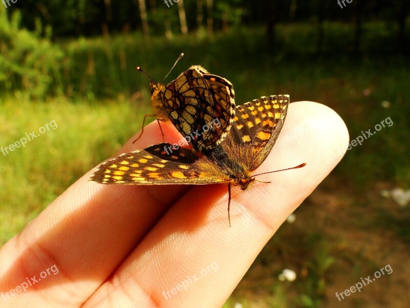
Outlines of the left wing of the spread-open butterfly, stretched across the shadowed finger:
M208 160L191 150L160 143L99 165L90 181L103 184L210 184L225 182L206 170Z

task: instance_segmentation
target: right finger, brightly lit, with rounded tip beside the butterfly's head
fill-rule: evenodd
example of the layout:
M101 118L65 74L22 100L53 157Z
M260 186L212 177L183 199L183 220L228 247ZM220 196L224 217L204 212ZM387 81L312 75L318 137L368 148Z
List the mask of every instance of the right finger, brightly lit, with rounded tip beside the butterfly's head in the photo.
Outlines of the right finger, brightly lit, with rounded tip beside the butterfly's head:
M189 190L86 306L222 306L281 223L341 160L348 134L340 117L313 102L289 106L279 141L247 191L227 184ZM344 150L340 150L344 149ZM261 176L262 179L262 176Z

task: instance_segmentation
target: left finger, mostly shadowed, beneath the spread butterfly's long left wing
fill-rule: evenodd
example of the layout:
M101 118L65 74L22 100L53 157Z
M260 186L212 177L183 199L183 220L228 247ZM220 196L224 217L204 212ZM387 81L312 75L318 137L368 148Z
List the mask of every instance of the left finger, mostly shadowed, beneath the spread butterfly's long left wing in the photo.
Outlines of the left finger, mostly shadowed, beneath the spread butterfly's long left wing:
M180 138L171 125L161 124L168 141ZM156 121L134 145L136 136L120 152L162 142ZM88 181L92 172L69 187L0 251L0 291L8 292L33 276L37 280L40 273L51 273L53 265L58 271L27 290L9 292L7 304L84 302L188 188L102 185Z

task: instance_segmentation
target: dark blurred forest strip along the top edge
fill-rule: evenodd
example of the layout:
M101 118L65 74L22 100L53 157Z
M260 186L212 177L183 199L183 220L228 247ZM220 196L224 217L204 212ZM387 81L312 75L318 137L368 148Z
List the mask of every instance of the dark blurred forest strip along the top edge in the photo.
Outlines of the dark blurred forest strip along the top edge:
M179 15L176 3L168 6L163 0L145 0L147 16L151 34L163 35L165 24L164 15L171 21L176 33L180 33ZM308 22L318 21L342 21L351 23L359 17L361 22L389 21L397 23L404 20L409 13L409 5L406 0L394 1L354 1L347 4L343 9L337 2L323 0L307 1L267 1L267 0L218 0L213 2L211 12L208 12L207 1L185 1L188 29L196 30L198 4L202 4L202 24L206 27L207 18L214 18L215 31L220 30L228 21L229 26L244 25L260 26L267 22L268 18L279 23L291 21ZM268 3L274 3L275 9L267 14ZM43 24L49 24L53 28L54 38L70 36L93 36L101 34L101 25L107 26L110 33L124 33L123 31L140 30L140 10L138 1L124 0L115 1L86 1L86 0L25 0L17 2L8 8L13 11L19 9L23 15L24 27L32 27L34 18L42 19ZM126 30L127 29L127 30ZM408 36L407 36L408 37Z

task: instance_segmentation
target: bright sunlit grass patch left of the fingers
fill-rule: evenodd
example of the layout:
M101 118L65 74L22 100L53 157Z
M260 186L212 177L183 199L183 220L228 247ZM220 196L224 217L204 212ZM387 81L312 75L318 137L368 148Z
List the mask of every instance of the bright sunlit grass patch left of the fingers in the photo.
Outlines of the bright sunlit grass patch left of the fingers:
M140 128L149 110L128 100L90 104L56 98L45 103L6 100L1 105L3 147L50 121L57 128L1 155L0 241L18 233L45 206ZM79 116L80 115L80 116ZM130 125L134 123L135 126ZM55 127L55 126L54 126Z

